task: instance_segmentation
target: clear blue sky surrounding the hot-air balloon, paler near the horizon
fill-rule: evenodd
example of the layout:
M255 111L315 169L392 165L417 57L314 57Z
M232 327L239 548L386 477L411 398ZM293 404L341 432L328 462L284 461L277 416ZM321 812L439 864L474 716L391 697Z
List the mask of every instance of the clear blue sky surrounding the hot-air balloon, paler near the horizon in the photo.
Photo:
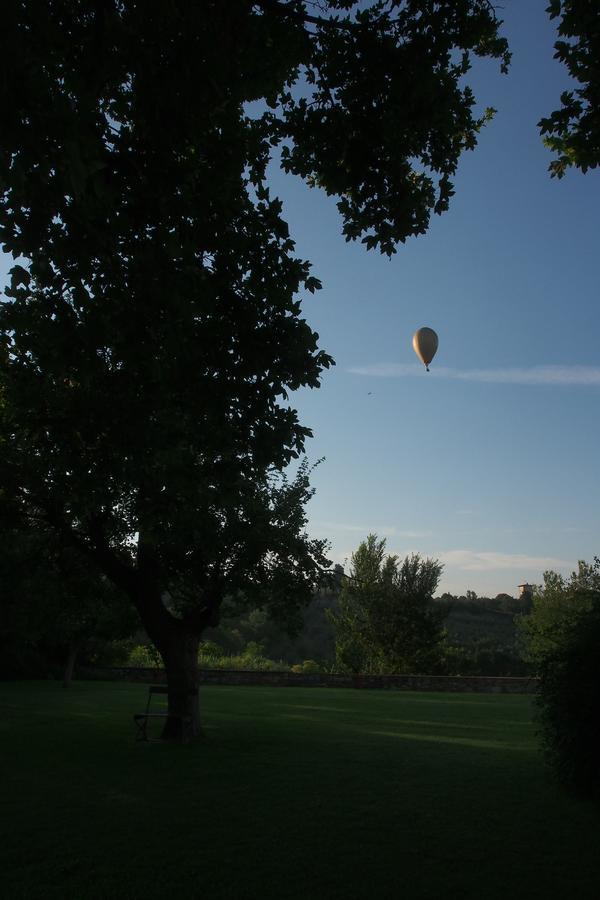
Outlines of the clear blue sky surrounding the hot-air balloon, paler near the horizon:
M344 562L372 531L444 563L440 590L516 594L600 553L600 173L550 179L536 122L568 86L546 0L505 0L509 75L469 83L498 109L450 212L388 261L346 244L335 204L273 170L304 303L336 359L293 398L314 430L309 529ZM9 268L7 258L0 269ZM440 339L427 374L411 339Z

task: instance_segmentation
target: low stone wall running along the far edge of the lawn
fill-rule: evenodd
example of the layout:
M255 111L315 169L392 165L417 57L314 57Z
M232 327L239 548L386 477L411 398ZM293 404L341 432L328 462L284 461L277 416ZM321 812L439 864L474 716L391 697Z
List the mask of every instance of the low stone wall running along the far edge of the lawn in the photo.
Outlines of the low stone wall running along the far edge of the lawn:
M394 691L453 691L484 694L533 694L536 678L500 678L479 675L342 675L296 672L249 672L201 669L200 684L260 685L262 687L344 687ZM128 666L80 668L76 677L98 681L166 682L162 669Z

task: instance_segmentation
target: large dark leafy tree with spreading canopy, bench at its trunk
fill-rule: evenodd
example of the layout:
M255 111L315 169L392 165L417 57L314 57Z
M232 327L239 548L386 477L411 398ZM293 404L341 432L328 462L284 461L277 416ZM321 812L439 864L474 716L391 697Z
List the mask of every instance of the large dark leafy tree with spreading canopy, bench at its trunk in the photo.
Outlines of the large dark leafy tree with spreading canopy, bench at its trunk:
M310 430L332 360L302 318L267 164L391 254L448 208L508 62L488 0L6 0L0 30L2 485L130 598L198 731L198 640L226 597L284 617L325 563Z

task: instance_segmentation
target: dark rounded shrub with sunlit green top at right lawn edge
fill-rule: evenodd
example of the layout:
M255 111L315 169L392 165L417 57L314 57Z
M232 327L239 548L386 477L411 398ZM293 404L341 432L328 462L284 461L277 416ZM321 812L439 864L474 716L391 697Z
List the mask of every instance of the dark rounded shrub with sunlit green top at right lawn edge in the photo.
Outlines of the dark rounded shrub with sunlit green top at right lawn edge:
M600 801L600 560L580 561L570 578L545 572L519 630L540 678L548 761L566 786Z

